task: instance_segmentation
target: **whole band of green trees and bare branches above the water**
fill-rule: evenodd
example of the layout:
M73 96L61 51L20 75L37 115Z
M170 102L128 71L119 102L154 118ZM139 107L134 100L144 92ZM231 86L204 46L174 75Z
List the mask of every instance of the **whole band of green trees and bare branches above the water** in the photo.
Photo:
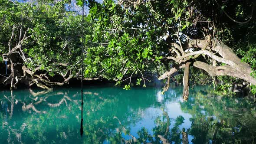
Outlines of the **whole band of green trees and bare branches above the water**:
M81 76L82 0L0 0L2 85L51 89ZM86 80L146 86L146 73L184 84L235 84L256 93L256 18L251 0L85 1ZM1 67L1 70L3 67ZM175 74L175 76L172 76ZM246 83L248 82L248 83ZM221 84L221 85L219 85Z

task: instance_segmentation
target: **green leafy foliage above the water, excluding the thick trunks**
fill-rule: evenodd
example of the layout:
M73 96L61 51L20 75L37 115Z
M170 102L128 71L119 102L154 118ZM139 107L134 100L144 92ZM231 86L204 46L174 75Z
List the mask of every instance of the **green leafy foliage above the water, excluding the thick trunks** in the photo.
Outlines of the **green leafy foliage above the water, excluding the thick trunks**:
M246 11L250 7L248 3L221 0L131 1L103 0L98 3L85 0L82 3L82 0L76 0L74 3L72 0L43 0L36 3L31 0L13 3L1 0L0 54L9 52L9 41L11 48L16 46L19 30L23 28L29 37L20 51L28 59L23 62L27 68L34 72L40 67L40 71L50 77L70 74L78 78L81 75L82 16L79 10L70 7L85 4L89 8L89 14L84 17L85 78L101 77L115 81L117 85L123 82L125 89L130 89L131 78L136 77L136 85L145 87L145 73L161 75L179 63L167 59L177 57L170 43L179 43L182 47L189 40L201 39L207 34L232 46L240 58L243 57L243 61L255 69L255 19L244 25L223 19L227 14L240 21L249 17ZM13 39L10 40L13 29ZM245 35L247 39L243 37ZM251 47L246 48L246 43ZM212 63L204 55L197 60ZM194 84L210 83L210 76L203 70L191 68L191 72L190 81ZM175 81L182 81L182 73L183 70L177 72ZM255 71L252 75L255 76ZM226 76L218 79L241 82Z

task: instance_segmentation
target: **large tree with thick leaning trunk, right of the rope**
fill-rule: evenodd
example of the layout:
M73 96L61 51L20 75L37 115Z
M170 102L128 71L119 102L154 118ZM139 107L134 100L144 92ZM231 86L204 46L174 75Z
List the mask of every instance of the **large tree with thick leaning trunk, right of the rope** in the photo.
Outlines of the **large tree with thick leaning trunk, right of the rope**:
M253 3L249 3L246 10L237 4L226 7L231 10L235 5L243 13L247 9L253 11ZM126 80L126 75L130 75L126 77L128 81L130 79L125 86L127 89L135 73L141 74L137 82L140 84L145 80L144 71L159 71L160 67L165 72L158 79L170 79L174 72L184 69L185 100L189 94L191 66L203 69L213 78L229 75L256 84L251 67L241 62L233 49L223 43L232 42L225 38L228 37L225 31L230 32L230 27L223 26L223 21L217 20L220 13L230 17L226 9L223 10L225 3L221 7L217 0L207 3L187 0L104 0L102 4L91 1L89 6L89 17L95 23L94 40L100 46L89 48L97 50L90 50L93 56L87 55L87 59L100 59L98 65L104 68L105 77L115 79L118 84ZM206 10L210 8L214 10ZM252 13L248 17L245 18L246 23L255 21ZM234 37L231 35L230 39ZM90 69L87 71L88 75L93 73ZM168 85L164 90L167 89Z

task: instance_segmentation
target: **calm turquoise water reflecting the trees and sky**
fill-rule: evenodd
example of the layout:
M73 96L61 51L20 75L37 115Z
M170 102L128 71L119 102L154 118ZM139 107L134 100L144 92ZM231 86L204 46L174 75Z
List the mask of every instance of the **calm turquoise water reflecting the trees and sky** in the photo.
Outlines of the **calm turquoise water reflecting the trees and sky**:
M256 105L208 87L88 87L80 136L79 88L0 91L0 144L256 143Z

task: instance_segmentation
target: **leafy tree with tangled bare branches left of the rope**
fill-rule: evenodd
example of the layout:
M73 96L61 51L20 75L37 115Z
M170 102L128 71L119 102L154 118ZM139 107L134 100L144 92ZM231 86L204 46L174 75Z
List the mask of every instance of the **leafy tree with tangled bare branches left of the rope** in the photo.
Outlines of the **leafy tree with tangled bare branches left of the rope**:
M0 3L0 53L11 69L3 83L51 89L80 76L82 16L68 10L70 0ZM89 34L92 25L85 25Z

